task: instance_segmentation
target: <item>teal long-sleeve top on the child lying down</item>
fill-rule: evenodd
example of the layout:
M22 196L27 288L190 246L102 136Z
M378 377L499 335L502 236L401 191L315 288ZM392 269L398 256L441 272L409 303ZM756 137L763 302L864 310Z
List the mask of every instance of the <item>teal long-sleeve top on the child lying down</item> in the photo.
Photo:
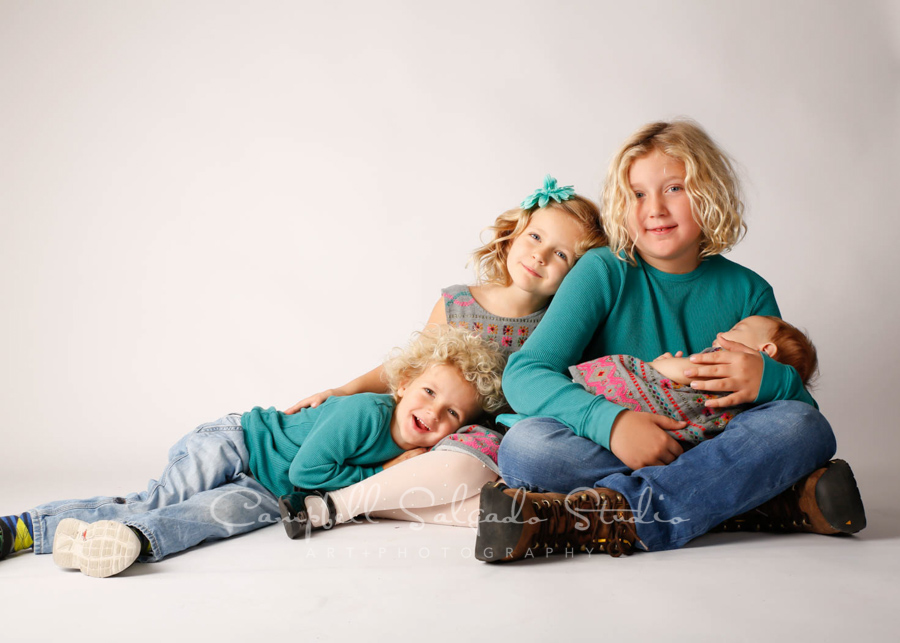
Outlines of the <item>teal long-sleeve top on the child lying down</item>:
M401 453L391 438L390 395L330 397L286 415L256 407L241 416L250 473L276 496L303 489L332 491L373 476Z

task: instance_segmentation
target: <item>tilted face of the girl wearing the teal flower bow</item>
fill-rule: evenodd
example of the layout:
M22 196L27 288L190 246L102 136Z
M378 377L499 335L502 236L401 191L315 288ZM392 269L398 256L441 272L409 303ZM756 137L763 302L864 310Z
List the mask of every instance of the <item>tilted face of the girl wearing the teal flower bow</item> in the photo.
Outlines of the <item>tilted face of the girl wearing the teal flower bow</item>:
M540 208L516 237L506 257L512 285L541 297L552 297L575 265L575 248L584 229L573 217Z

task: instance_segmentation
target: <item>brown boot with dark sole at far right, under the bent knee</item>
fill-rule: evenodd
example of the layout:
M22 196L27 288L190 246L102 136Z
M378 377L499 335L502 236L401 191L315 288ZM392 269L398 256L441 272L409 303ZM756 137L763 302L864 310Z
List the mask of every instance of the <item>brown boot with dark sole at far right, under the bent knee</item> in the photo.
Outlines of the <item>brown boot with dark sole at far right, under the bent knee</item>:
M853 471L844 460L832 460L780 495L712 531L855 534L865 527L866 512Z

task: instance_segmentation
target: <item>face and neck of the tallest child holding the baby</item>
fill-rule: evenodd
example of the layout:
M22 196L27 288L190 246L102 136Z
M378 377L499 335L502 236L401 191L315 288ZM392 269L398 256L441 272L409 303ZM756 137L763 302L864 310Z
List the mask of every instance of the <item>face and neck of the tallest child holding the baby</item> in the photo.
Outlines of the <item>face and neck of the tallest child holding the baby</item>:
M684 163L659 151L635 159L628 172L636 198L628 233L644 261L674 274L700 265L702 231L692 216L685 176Z

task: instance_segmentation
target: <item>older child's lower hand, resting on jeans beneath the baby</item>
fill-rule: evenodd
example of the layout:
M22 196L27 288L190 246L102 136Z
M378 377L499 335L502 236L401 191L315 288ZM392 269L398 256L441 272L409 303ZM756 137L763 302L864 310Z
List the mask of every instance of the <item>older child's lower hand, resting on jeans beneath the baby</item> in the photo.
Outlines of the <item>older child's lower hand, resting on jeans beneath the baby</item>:
M686 426L687 422L665 415L623 411L613 423L609 449L631 470L669 464L684 449L666 431Z

